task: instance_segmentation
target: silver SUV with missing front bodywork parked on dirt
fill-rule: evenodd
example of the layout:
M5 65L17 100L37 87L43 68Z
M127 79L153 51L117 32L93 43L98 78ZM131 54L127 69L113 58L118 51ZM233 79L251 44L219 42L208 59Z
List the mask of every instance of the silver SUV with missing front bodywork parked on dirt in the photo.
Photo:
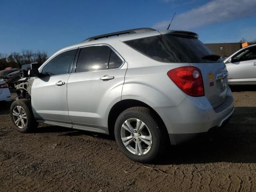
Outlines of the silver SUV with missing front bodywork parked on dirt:
M234 111L225 64L193 32L139 28L95 36L52 55L29 78L10 115L114 134L130 159L149 162L225 124Z

